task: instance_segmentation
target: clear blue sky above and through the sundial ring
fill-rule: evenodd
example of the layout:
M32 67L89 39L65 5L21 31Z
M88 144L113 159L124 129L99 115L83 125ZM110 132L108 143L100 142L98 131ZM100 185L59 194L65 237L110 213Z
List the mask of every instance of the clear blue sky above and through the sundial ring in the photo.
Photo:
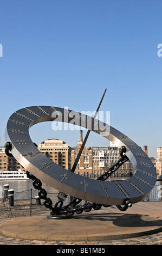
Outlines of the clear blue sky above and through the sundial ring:
M107 88L100 110L110 111L111 125L156 158L162 147L161 10L161 0L1 0L1 144L18 109L92 112ZM30 136L73 147L79 131L53 131L44 123ZM89 145L109 142L90 132Z

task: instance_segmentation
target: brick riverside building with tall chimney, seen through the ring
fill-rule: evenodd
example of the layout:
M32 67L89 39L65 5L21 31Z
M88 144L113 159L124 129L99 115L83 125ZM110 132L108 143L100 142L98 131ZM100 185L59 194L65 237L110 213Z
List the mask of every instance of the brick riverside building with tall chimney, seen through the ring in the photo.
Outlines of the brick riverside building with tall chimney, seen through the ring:
M72 166L82 145L82 131L77 146L71 151ZM79 174L92 174L92 176L104 173L112 164L120 159L120 150L117 147L90 147L83 148L80 160L77 163L75 172ZM132 175L133 167L130 161L124 163L117 172L117 175Z

